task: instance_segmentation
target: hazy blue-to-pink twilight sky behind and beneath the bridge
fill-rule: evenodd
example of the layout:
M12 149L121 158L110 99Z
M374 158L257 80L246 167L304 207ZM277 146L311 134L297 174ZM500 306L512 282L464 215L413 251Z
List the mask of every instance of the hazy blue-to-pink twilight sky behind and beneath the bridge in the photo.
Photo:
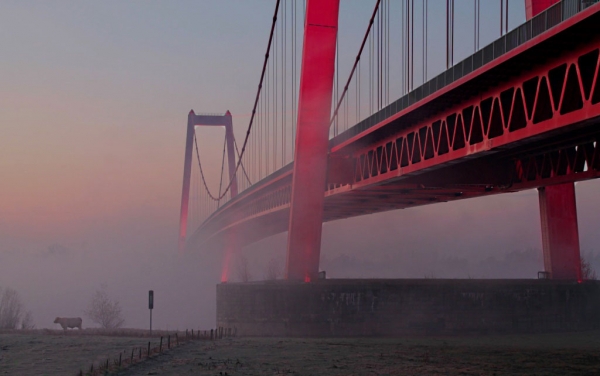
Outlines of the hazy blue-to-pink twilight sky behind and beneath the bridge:
M471 3L457 1L456 61L472 48ZM495 3L483 3L482 46L499 32ZM509 3L509 28L524 20L521 3ZM214 325L221 254L175 252L187 113L230 110L243 138L273 6L0 2L0 287L19 291L38 327L84 317L101 287L128 327L147 326L149 289L155 327ZM372 6L342 0L340 61L352 60ZM442 69L439 43L430 77ZM207 176L218 176L222 137L202 133ZM576 187L582 250L600 252L599 185ZM539 229L536 191L394 211L325 224L322 265L335 277L534 277ZM285 239L244 249L255 278L268 260L283 263ZM528 266L515 272L519 255Z

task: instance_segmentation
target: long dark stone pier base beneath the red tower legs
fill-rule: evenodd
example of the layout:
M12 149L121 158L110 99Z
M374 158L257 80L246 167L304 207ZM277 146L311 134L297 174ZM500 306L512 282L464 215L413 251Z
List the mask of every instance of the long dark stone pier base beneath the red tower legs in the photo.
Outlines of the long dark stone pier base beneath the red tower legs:
M475 335L594 330L600 283L328 279L217 285L217 326L238 336Z

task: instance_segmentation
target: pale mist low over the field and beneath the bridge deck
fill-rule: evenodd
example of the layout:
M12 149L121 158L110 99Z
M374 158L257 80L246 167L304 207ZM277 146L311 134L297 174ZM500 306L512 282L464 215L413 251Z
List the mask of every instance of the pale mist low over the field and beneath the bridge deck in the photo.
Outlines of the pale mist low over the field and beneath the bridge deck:
M596 182L577 184L582 254L600 271L598 205L586 204L597 192ZM538 210L537 191L526 191L327 223L321 268L329 278L536 278L543 270ZM148 327L153 289L155 328L210 328L222 255L178 255L173 222L99 225L47 245L2 234L0 286L20 293L41 328L57 327L56 316L81 316L84 327L94 326L84 310L102 286L120 302L125 327ZM244 248L251 280L265 279L271 260L282 273L285 242L280 234ZM240 280L239 259L232 281Z

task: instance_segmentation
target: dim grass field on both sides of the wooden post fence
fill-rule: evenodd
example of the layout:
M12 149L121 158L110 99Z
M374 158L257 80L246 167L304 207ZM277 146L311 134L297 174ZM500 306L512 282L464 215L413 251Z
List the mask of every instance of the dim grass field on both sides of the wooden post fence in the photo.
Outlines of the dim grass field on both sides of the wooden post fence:
M85 332L0 333L0 375L75 375L148 343ZM118 375L600 375L600 332L192 341Z

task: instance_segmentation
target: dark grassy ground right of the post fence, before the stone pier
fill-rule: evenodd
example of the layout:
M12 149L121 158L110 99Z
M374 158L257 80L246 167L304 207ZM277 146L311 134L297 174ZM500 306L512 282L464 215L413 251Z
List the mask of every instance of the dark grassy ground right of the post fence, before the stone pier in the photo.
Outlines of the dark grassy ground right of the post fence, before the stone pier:
M119 375L599 375L600 333L191 342Z

